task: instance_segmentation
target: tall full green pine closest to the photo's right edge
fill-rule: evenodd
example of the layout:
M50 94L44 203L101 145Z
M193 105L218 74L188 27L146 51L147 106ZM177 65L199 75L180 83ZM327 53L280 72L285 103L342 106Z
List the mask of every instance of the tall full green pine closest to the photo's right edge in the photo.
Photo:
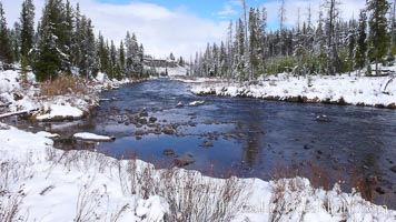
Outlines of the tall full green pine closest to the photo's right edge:
M386 13L389 10L387 0L368 0L367 10L369 10L369 58L376 64L376 74L379 74L378 63L386 56L389 47L389 34L387 33Z

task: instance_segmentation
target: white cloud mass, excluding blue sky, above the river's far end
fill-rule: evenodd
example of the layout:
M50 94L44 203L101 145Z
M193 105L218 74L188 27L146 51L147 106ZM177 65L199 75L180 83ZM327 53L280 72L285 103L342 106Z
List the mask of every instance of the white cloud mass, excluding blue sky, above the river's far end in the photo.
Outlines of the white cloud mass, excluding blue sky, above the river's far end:
M18 20L22 0L2 0L9 23ZM37 18L41 17L44 0L34 0ZM71 0L73 6L77 0ZM202 19L185 8L170 10L154 3L131 1L127 4L80 2L81 13L92 19L95 30L119 42L127 31L135 32L147 53L164 58L174 52L189 59L207 42L219 42L226 36L227 23Z

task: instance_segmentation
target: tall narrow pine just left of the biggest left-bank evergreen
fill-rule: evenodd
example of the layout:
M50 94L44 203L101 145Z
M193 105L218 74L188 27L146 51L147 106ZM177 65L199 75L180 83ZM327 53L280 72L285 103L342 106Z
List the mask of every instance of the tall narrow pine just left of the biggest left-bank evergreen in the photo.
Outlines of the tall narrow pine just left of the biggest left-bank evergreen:
M34 46L34 4L32 0L23 1L19 20L21 24L20 53L29 61L29 52Z

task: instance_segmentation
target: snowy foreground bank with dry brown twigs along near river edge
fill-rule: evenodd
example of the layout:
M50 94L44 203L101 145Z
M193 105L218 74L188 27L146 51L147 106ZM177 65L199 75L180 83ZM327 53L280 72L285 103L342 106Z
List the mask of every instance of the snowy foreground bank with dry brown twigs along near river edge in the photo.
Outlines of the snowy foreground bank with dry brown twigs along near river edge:
M43 222L396 220L395 211L338 185L324 191L300 178L265 182L156 170L139 160L56 150L52 137L0 123L3 215L14 209L14 219Z

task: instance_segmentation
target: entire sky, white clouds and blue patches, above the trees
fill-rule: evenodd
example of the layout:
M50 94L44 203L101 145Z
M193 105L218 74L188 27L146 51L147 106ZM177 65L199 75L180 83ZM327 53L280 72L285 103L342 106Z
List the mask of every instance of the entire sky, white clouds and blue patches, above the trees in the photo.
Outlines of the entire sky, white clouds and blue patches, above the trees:
M18 21L22 0L0 0L9 26ZM96 32L119 42L127 31L135 32L148 54L165 58L172 52L189 60L196 51L204 50L207 42L226 39L230 20L242 13L240 0L70 0L80 3L83 14L92 19ZM311 6L313 20L317 20L323 0L285 0L287 26L297 24L307 17ZM36 20L41 17L44 0L33 0ZM248 7L266 7L268 29L279 27L280 0L247 0ZM344 18L358 17L365 0L341 0Z

